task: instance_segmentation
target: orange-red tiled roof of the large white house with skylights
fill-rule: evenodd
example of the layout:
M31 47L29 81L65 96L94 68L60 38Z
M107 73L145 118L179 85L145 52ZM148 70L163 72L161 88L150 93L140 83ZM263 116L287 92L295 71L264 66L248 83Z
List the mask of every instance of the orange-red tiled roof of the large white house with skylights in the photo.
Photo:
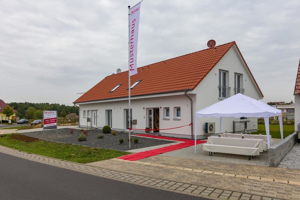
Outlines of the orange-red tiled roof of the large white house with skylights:
M214 48L204 49L139 67L138 73L131 76L131 85L138 80L142 81L131 89L131 96L195 89L233 45L236 46L235 41L216 46L216 51ZM241 58L244 60L242 55ZM110 92L118 84L122 85ZM257 83L256 86L259 89ZM128 71L125 71L105 77L73 103L128 97L127 89Z

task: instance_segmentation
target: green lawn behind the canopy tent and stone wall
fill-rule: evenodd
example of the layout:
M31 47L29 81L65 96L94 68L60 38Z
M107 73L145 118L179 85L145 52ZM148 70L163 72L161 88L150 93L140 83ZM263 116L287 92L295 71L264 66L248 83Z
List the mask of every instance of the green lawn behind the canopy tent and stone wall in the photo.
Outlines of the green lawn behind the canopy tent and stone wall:
M257 124L257 133L253 134L259 134L265 135L265 124ZM281 138L280 136L280 127L279 124L270 124L270 135L272 138ZM294 132L295 125L283 125L283 138L286 138L286 136L289 136L291 133Z

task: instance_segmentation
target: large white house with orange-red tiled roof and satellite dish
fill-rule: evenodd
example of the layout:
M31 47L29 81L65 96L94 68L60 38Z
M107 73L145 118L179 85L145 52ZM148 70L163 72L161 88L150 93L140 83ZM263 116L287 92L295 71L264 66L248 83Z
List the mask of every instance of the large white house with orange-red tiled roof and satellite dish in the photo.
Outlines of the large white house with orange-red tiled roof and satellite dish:
M194 113L234 94L262 99L236 43L230 42L198 52L171 58L138 68L131 76L131 113L137 129L168 129L190 124ZM73 102L79 105L79 126L128 130L128 71L105 77ZM197 138L205 138L205 122L218 118L198 118ZM257 118L224 118L222 132L232 131L233 121ZM90 122L88 122L90 126ZM144 131L136 131L143 133ZM160 130L163 136L191 138L192 126Z

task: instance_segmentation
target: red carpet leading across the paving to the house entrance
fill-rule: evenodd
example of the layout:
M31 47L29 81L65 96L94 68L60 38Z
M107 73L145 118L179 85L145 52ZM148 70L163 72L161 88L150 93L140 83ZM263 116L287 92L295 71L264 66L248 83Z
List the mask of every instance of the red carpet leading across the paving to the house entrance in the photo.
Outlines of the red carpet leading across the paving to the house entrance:
M139 152L139 153L135 153L135 154L122 156L122 157L119 157L119 159L135 161L135 160L140 160L140 159L151 157L151 156L156 156L158 154L167 153L169 151L174 151L174 150L190 147L195 144L195 140L190 140L190 139L171 138L171 137L166 137L166 136L152 136L152 135L144 135L144 134L140 134L140 135L136 135L136 136L143 136L143 137L148 137L148 138L158 138L158 139L168 139L168 140L174 140L174 141L178 141L178 142L182 142L182 143L177 144L177 145L170 145L167 147L162 147L162 148L158 148L158 149L152 149L149 151L143 151L143 152ZM196 140L197 145L204 143L204 142L206 142L206 141Z

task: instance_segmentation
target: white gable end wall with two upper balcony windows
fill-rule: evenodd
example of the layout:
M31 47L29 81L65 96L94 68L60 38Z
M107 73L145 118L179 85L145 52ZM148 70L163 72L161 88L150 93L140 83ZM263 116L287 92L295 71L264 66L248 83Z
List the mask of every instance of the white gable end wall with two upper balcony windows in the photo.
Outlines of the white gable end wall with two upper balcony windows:
M234 73L242 74L242 87L245 89L244 95L253 99L262 99L259 91L256 89L247 67L239 57L239 53L232 46L229 51L223 56L223 58L217 63L217 65L208 73L207 76L196 87L196 110L201 110L217 103L219 100L219 70L225 70L227 72L227 86L231 87L230 96L234 95ZM248 118L251 122L257 122L256 117ZM233 121L240 121L239 118L223 118L221 133L225 130L233 131ZM220 132L220 119L219 118L198 118L197 120L197 138L203 138L205 133L205 122L215 122L216 133ZM205 134L205 136L209 136Z

